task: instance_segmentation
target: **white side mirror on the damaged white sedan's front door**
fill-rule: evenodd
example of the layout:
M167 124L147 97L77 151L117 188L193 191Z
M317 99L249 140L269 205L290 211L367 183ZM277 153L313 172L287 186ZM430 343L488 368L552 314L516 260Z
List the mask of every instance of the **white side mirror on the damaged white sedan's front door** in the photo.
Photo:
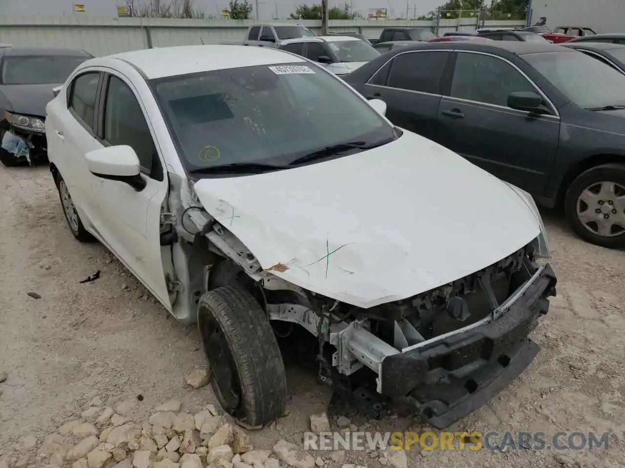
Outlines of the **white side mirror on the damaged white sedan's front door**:
M108 146L84 155L89 171L97 177L128 183L137 192L146 187L141 177L141 163L128 145Z

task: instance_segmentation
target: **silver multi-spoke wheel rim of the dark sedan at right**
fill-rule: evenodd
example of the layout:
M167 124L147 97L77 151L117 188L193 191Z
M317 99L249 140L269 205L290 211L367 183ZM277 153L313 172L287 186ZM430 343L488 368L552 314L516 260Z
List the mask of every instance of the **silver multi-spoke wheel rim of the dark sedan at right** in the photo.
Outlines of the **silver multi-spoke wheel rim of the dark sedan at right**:
M577 198L577 219L601 237L625 233L625 187L604 180L586 187Z

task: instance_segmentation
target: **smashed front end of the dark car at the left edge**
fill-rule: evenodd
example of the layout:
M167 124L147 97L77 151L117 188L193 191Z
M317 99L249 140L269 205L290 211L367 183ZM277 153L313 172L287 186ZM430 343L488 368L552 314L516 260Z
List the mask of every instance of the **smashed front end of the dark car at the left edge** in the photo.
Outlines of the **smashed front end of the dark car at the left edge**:
M0 156L4 165L47 161L46 127L43 117L6 111L0 124Z

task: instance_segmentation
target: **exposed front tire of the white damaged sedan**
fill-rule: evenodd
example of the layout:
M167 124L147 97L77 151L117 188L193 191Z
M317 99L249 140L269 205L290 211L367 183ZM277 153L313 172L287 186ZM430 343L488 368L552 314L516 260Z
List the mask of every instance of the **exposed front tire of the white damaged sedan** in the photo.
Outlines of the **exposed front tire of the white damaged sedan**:
M286 411L284 363L269 319L238 286L201 296L197 326L211 366L211 386L228 414L261 426Z

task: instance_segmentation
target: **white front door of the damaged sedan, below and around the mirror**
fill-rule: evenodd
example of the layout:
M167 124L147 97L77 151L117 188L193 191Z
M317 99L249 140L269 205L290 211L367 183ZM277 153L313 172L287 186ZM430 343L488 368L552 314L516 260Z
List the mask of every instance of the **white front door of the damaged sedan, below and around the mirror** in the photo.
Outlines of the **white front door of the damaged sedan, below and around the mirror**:
M98 140L103 147L128 145L141 162L146 187L137 192L128 183L89 173L92 203L99 217L94 227L109 248L171 310L161 260L161 205L168 194L149 117L131 81L105 74L101 92Z

